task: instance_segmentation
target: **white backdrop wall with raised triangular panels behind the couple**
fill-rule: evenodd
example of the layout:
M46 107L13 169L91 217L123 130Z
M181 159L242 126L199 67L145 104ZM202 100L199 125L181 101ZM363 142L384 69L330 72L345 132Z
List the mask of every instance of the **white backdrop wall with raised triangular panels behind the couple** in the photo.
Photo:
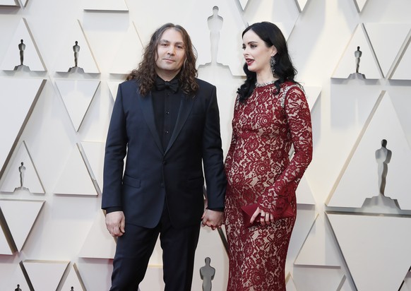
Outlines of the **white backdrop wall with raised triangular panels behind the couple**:
M198 52L199 78L217 86L227 153L244 80L241 33L263 20L284 32L313 121L314 158L297 189L287 290L411 290L410 1L168 4L0 0L0 290L109 289L115 240L100 209L102 160L119 83L155 28L183 25ZM20 40L30 70L15 70ZM383 139L392 157L381 194L375 153ZM225 290L227 254L208 227L201 228L193 290L201 290L205 257L216 270L213 290ZM157 243L140 289L163 287Z

